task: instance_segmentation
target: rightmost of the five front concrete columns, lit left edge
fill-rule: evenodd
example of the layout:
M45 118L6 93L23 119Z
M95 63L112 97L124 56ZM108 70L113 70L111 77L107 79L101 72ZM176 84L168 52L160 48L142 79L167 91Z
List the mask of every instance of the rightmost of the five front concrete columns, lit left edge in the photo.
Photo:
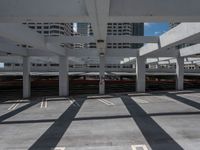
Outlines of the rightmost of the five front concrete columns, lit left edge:
M176 58L176 90L184 89L184 58Z

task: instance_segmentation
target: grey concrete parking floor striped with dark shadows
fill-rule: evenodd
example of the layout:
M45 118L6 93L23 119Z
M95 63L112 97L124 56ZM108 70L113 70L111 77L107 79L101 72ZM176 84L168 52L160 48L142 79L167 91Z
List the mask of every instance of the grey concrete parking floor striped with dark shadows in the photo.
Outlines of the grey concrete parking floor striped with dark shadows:
M199 124L197 90L13 99L0 104L0 149L199 150Z

